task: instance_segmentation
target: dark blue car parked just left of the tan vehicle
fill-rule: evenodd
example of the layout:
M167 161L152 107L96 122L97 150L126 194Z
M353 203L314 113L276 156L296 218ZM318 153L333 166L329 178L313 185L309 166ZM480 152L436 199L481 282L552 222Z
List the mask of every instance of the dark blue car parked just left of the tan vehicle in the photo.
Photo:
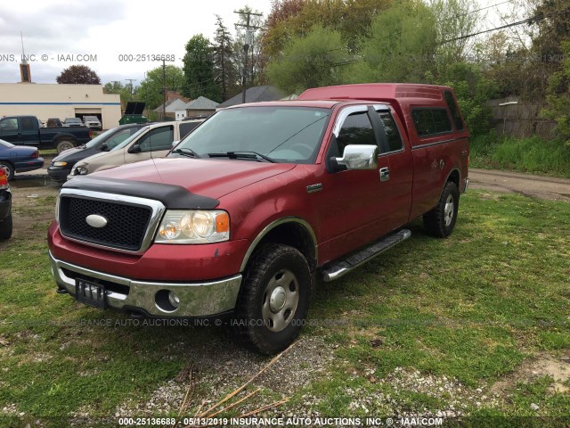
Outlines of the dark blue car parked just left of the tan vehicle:
M144 126L146 126L146 124L143 123L121 125L120 127L109 129L101 135L94 137L89 143L66 150L59 156L53 158L52 163L47 168L47 174L52 177L53 181L64 183L71 173L71 169L73 169L78 161L82 161L96 153L110 152L110 150L114 149L118 144L123 143L128 137L132 136Z

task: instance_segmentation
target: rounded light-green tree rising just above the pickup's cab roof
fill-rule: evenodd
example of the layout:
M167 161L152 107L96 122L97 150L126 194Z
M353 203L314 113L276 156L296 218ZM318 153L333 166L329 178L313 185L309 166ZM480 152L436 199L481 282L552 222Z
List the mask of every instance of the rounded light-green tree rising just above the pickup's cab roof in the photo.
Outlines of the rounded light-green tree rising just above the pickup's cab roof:
M343 83L343 66L350 61L340 33L317 25L306 37L289 40L281 57L269 63L267 76L272 85L298 94L309 87Z

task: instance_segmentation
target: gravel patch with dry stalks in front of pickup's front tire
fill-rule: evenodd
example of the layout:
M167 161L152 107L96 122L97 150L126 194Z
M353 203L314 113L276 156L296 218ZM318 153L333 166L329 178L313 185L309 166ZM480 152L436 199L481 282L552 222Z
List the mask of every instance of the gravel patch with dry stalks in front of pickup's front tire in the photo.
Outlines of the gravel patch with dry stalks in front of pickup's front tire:
M227 342L209 342L189 348L185 343L173 343L172 352L183 352L188 356L188 365L174 379L162 384L151 393L151 398L134 402L126 401L116 410L118 416L142 416L177 412L183 405L187 391L190 406L187 414L193 415L203 403L202 409L223 399L229 392L248 382L259 373L272 358L267 358L236 347L228 347ZM246 413L276 400L286 399L295 391L308 385L319 375L325 374L333 360L332 346L312 337L301 338L263 374L237 394L228 403L243 399L252 391L261 389L255 396L245 399L237 411ZM216 356L212 358L212 356ZM222 406L224 407L224 406ZM219 407L219 408L222 408ZM79 408L74 417L93 416L93 409Z

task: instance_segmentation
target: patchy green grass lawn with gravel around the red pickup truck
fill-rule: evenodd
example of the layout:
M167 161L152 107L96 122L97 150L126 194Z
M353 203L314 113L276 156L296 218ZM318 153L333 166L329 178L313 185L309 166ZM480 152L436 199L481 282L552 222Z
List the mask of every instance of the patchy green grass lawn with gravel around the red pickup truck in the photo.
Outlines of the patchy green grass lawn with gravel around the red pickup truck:
M30 203L32 218L53 210L52 196ZM188 367L193 416L203 399L215 402L270 361L223 328L133 325L57 295L47 226L31 222L27 234L0 244L0 425L61 426L85 416L91 426L104 425L101 417L116 426L128 411L175 416ZM319 284L299 343L246 388L261 388L248 408L286 397L260 416L570 424L568 378L555 391L550 372L533 366L570 358L569 230L565 202L486 192L462 196L447 240L413 222L405 243Z

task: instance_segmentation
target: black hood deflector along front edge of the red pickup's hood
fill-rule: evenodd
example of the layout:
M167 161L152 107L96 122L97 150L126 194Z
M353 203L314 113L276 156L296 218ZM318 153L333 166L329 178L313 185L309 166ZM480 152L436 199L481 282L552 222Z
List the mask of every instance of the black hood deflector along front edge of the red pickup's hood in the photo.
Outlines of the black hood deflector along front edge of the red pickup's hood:
M79 176L69 180L63 188L153 199L170 210L213 210L220 204L216 199L191 193L181 185L146 181Z

